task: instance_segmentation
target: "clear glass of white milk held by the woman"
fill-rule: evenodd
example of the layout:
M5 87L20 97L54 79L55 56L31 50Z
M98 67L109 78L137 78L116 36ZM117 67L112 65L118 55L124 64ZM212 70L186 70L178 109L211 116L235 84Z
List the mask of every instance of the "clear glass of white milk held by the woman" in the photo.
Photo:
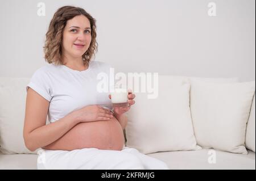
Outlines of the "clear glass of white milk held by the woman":
M128 103L128 91L126 86L115 85L111 92L112 107L127 107Z

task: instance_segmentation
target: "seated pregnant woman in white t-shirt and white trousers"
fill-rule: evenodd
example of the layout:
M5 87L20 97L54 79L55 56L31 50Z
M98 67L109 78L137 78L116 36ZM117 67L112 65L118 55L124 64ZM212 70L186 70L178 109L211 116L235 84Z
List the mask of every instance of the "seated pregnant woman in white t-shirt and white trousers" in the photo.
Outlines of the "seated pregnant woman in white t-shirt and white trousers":
M109 93L97 91L97 75L109 75L111 66L92 61L96 51L96 20L79 7L58 9L46 33L49 64L26 87L23 137L29 150L44 150L38 169L168 169L125 146L125 113L135 95L112 111Z

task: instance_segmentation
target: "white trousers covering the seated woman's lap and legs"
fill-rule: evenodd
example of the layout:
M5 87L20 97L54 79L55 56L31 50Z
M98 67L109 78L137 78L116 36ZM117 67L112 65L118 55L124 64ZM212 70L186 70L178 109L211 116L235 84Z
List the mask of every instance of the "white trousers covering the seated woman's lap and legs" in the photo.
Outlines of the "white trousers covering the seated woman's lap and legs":
M39 154L38 169L166 170L168 166L158 159L125 146L121 151L96 148L72 151L45 150Z

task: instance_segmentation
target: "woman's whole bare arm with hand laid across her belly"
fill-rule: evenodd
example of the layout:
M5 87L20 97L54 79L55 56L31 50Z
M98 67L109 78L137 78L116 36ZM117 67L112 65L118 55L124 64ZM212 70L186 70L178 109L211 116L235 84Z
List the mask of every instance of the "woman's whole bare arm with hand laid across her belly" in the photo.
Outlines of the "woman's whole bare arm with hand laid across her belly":
M89 105L46 125L48 107L48 100L30 88L27 90L23 137L25 145L31 151L59 140L81 122L110 121L113 118L109 110L98 105Z

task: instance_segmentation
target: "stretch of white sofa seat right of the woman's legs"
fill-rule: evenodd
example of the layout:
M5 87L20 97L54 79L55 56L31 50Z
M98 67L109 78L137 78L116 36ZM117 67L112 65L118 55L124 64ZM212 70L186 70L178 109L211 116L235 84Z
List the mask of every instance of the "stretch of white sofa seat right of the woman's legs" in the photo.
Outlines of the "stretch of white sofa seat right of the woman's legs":
M250 169L255 170L255 153L236 154L202 149L196 151L167 151L148 154L167 163L169 169ZM215 157L215 158L213 158Z

